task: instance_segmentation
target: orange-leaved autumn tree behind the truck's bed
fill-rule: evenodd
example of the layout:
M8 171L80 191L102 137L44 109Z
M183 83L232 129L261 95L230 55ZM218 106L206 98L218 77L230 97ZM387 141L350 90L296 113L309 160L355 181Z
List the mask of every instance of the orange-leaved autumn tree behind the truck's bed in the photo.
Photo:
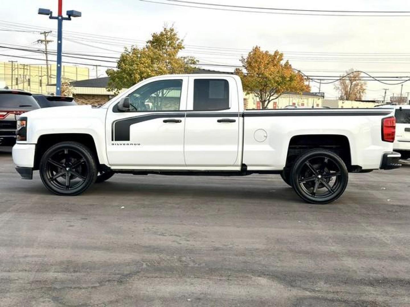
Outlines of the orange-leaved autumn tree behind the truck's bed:
M254 94L263 109L283 93L310 90L302 74L294 72L289 61L283 63L283 54L278 50L270 53L256 46L246 58L242 57L241 63L245 72L237 68L235 73L241 77L244 91Z

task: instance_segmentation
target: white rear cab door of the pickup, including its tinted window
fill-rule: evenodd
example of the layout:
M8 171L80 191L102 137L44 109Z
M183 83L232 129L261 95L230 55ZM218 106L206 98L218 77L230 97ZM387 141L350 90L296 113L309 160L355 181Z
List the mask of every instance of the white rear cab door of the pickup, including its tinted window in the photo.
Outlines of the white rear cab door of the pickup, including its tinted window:
M184 156L187 167L241 167L242 128L232 77L189 77Z

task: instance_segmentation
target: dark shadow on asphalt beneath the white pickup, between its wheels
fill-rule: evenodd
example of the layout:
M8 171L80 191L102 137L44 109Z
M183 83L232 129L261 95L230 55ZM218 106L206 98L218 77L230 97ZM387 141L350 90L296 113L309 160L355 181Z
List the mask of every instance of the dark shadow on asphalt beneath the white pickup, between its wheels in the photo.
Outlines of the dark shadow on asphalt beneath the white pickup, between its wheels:
M277 182L272 182L269 186L269 182L263 182L246 185L244 183L233 182L223 183L220 185L207 184L207 182L195 183L195 177L184 178L183 181L176 184L174 178L169 178L169 181L173 183L164 183L164 179L160 180L158 183L150 178L150 182L144 182L143 178L138 178L137 180L130 180L127 182L118 181L107 181L104 183L98 183L91 186L89 190L84 192L79 196L75 196L76 201L81 201L82 198L87 199L93 197L105 197L107 201L109 199L121 199L121 197L138 197L138 198L165 198L167 202L179 199L208 199L210 201L229 201L229 200L240 200L240 201L286 201L294 202L301 201L298 196L294 193L291 187L281 183L280 179ZM191 181L191 183L187 183ZM34 178L33 181L27 181L23 190L23 193L31 195L50 195L54 196L49 192L46 187L43 186L41 180L38 176ZM35 182L35 183L34 183ZM193 182L193 183L192 183ZM34 184L33 184L34 183ZM56 196L65 198L64 196Z

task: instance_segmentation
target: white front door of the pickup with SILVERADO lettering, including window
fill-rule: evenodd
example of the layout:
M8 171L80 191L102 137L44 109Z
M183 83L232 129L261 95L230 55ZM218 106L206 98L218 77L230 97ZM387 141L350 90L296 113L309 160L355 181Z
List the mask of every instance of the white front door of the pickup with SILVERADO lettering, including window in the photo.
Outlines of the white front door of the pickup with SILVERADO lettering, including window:
M184 125L188 77L142 84L125 97L127 112L110 106L106 120L109 164L116 169L185 167Z

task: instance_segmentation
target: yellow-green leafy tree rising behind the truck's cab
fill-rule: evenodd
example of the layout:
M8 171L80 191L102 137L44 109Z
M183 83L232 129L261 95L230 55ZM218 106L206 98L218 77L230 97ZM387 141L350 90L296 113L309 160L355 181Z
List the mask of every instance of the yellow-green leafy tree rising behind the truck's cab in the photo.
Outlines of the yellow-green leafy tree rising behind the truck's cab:
M184 41L173 27L164 27L153 33L142 48L125 48L117 63L117 69L108 69L108 90L118 92L146 78L161 74L181 74L194 69L194 57L181 57Z

